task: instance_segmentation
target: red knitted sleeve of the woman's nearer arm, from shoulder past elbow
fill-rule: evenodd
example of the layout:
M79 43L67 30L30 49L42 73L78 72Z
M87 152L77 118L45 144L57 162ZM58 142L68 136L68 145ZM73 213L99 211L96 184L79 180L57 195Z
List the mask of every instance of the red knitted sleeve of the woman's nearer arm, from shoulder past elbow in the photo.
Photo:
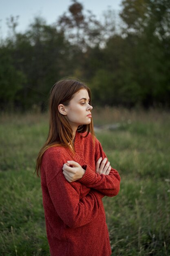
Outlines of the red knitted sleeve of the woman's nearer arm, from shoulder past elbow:
M73 188L62 173L62 162L56 152L51 152L50 157L45 159L46 175L56 173L55 177L47 184L49 195L63 222L71 228L81 227L88 224L98 215L98 210L102 205L104 195L93 189L79 198L79 191Z

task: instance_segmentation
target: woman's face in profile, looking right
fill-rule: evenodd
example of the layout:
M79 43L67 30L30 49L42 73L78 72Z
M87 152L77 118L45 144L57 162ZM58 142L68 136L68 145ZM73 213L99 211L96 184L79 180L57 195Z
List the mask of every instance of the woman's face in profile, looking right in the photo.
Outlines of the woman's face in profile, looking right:
M65 106L66 116L71 128L76 128L82 124L91 123L92 106L89 105L89 96L86 89L76 92L68 106Z

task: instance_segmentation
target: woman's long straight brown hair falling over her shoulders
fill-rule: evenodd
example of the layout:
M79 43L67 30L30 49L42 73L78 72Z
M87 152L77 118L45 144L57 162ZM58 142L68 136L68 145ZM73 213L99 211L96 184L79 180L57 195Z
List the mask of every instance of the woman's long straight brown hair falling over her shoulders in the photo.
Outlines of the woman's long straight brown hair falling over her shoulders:
M50 113L50 126L49 135L45 144L40 149L36 160L35 172L37 176L40 177L40 166L42 161L42 156L44 152L53 146L64 146L70 148L74 152L73 131L70 124L68 123L66 116L62 115L58 110L58 105L63 104L68 106L69 102L73 98L73 95L81 89L86 89L88 96L90 98L89 104L91 104L91 91L85 83L82 83L75 79L64 79L60 80L53 85L50 91L49 97L49 113ZM77 131L87 132L85 137L91 132L91 135L95 137L93 129L93 120L91 119L90 124L83 124L77 128Z

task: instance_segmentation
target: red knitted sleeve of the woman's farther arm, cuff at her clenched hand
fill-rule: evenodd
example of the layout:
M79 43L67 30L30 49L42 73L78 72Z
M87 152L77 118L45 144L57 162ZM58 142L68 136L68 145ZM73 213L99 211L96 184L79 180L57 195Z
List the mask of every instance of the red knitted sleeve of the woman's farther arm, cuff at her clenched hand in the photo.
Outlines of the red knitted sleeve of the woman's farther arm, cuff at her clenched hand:
M104 159L106 154L102 149L102 145L96 139L95 140L95 162L102 157ZM120 176L119 173L111 168L109 175L95 173L90 166L86 165L86 172L83 177L79 180L80 183L88 186L89 188L96 189L104 195L115 196L119 193L120 189Z

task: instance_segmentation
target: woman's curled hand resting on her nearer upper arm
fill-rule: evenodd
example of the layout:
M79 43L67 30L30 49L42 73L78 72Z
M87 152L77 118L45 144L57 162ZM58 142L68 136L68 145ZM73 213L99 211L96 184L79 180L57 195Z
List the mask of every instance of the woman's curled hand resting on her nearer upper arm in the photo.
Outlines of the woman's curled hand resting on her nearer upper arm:
M73 182L75 180L79 180L83 177L85 170L75 161L67 161L66 164L63 165L63 174L68 182Z

